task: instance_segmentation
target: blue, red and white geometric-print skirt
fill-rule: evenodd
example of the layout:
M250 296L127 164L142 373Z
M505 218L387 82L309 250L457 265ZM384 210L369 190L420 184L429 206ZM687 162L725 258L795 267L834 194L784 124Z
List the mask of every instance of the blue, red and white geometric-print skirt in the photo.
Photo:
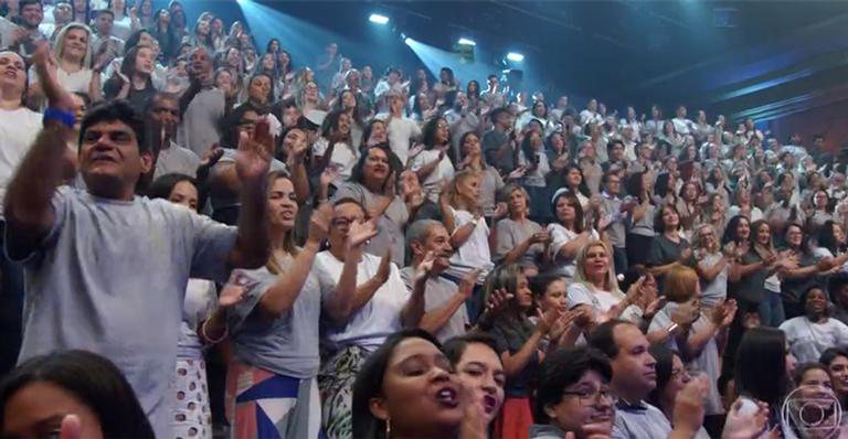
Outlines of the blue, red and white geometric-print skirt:
M321 404L315 378L278 375L233 361L225 401L233 438L318 438Z

